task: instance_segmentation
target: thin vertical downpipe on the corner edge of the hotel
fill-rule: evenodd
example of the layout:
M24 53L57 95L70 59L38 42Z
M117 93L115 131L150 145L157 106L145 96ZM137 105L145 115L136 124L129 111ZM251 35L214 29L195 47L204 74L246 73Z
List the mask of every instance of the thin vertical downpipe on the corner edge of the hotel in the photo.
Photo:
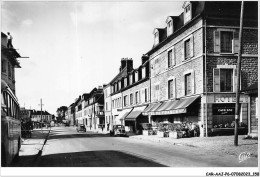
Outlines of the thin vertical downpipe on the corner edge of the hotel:
M206 35L206 28L207 28L207 22L205 19L205 37L204 37L204 43L205 43L205 95L206 95L206 99L205 99L205 119L206 119L206 137L208 137L208 88L207 88L207 35Z

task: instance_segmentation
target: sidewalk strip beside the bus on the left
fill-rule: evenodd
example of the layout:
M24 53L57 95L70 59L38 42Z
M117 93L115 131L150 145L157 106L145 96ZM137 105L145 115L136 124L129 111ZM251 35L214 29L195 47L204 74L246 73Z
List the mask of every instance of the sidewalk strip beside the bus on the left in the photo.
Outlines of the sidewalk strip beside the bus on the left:
M31 138L23 138L19 151L19 159L14 162L15 167L33 167L34 161L40 155L41 150L46 143L50 129L34 129Z

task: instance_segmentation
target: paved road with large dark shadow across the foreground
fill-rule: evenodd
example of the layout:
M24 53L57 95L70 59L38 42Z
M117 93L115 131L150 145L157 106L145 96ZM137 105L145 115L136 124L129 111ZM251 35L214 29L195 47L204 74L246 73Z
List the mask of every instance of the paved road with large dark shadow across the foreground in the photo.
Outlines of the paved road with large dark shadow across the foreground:
M199 152L201 151L201 152ZM75 127L54 127L36 167L230 167L245 166L203 149L110 137ZM250 164L249 164L250 165ZM246 165L247 166L247 165Z

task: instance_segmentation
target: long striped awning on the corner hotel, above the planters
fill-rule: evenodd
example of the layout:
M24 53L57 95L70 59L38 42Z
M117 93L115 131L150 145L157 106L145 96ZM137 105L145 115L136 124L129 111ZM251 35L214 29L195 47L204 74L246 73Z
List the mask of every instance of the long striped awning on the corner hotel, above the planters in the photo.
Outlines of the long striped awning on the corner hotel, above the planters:
M180 100L165 101L156 110L151 111L151 115L181 114L187 113L187 107L190 106L200 96L182 98Z

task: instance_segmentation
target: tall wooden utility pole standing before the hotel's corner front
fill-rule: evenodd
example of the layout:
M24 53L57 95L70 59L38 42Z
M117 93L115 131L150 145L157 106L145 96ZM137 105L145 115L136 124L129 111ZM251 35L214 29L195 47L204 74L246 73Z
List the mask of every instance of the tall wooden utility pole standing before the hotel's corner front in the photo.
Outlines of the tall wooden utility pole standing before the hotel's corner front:
M239 50L237 59L237 88L236 88L236 113L235 113L235 139L234 145L238 146L238 121L240 113L240 75L241 75L241 55L242 55L242 35L243 35L243 13L244 13L244 1L241 2L240 13L240 28L239 28Z

